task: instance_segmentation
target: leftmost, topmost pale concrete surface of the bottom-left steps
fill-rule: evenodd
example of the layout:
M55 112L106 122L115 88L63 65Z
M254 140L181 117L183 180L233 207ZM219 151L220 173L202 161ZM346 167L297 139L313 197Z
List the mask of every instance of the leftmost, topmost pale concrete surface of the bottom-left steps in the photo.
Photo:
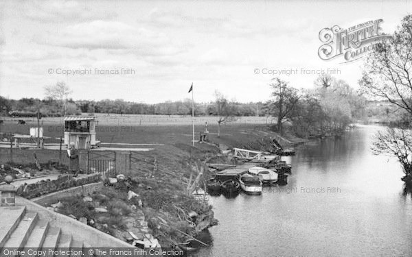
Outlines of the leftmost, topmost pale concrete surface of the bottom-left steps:
M0 249L25 214L25 206L0 207Z

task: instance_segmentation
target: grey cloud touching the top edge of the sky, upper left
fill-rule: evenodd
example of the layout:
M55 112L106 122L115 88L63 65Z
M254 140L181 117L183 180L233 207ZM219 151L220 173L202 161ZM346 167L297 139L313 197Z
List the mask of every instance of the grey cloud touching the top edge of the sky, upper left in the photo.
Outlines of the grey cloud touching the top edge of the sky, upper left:
M27 18L43 23L92 21L95 19L113 19L117 16L111 10L99 12L94 8L90 8L86 2L80 4L77 1L49 0L27 1L22 4L24 5L23 14Z

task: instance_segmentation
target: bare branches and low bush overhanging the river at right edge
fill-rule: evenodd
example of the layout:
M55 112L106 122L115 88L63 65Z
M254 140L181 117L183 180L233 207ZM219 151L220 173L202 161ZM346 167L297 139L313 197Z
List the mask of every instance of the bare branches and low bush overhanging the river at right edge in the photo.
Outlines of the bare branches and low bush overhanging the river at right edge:
M393 37L381 42L365 62L361 88L371 97L387 99L412 118L412 15L402 19ZM374 140L377 154L398 158L406 174L402 180L412 182L412 132L405 128L388 128Z

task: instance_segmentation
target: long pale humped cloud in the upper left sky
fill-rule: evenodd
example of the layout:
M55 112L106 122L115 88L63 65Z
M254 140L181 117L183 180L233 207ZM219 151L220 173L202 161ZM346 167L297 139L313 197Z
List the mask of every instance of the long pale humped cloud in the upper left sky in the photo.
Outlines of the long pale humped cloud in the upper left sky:
M108 49L140 56L164 56L181 52L166 34L120 21L90 21L68 25L57 33L39 35L36 42L71 49Z

